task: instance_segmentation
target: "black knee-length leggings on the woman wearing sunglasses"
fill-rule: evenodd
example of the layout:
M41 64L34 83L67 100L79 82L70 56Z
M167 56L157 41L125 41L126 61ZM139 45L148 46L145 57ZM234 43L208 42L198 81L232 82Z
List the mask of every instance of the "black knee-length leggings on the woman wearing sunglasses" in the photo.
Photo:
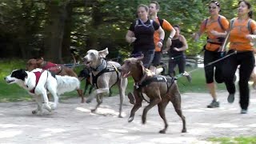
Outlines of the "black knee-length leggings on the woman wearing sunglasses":
M210 62L214 62L221 58L221 53L220 52L214 52L210 50L205 50L205 55L204 55L204 66L205 66L205 74L206 74L206 83L212 83L215 81L218 83L223 82L222 78L222 61L216 62L210 66L206 66ZM214 72L214 67L215 67L215 72Z

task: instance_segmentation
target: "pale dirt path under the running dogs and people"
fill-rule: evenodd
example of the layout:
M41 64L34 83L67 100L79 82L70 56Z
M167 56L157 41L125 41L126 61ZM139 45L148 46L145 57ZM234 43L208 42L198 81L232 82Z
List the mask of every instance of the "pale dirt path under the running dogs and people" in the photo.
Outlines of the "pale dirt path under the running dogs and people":
M226 102L226 93L218 93L221 107L207 109L209 94L182 94L183 114L188 133L182 134L182 122L169 104L166 117L169 129L154 107L146 125L141 123L142 109L134 122L127 122L132 106L125 102L124 118L118 118L118 97L105 98L98 114L91 114L90 104L80 98L60 102L58 110L43 116L32 115L34 102L0 103L0 143L206 143L210 137L233 137L256 134L256 91L251 92L248 114L240 114L238 94L234 104ZM146 106L146 103L143 104Z

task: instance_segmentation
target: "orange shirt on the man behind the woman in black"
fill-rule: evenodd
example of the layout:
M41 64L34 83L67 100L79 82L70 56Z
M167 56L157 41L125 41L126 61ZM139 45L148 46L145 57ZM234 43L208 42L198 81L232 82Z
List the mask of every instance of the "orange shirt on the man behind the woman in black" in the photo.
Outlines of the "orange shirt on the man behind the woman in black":
M173 26L171 26L170 23L167 22L165 19L162 19L162 20L163 20L162 29L166 30L166 31L171 31L173 29ZM158 24L160 25L160 22L158 21L158 18L155 18L154 21L158 22ZM158 47L158 42L159 41L160 41L159 34L158 34L157 31L154 31L154 46L155 46L154 51L161 51L161 47Z

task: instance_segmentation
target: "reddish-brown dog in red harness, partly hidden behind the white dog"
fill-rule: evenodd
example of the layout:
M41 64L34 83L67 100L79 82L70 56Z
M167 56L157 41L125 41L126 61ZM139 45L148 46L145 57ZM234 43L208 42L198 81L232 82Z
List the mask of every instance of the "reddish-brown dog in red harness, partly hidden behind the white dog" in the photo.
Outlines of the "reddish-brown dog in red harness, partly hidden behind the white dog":
M74 58L74 57L73 57ZM74 59L74 66L75 66L75 59ZM32 58L26 62L26 70L31 71L35 68L41 68L43 70L49 70L57 75L69 75L71 77L78 78L78 75L74 72L74 66L72 68L66 67L61 64L55 64L52 62L46 62L43 58ZM85 102L84 95L82 94L82 90L78 89L78 95L82 98L82 103Z

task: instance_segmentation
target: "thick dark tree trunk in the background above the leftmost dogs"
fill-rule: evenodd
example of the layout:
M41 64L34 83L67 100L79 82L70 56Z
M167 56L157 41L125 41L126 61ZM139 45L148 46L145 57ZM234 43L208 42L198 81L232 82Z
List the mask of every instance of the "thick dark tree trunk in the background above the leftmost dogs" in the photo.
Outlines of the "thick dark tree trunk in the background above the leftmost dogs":
M48 3L49 20L46 26L44 58L47 61L63 63L62 41L66 22L66 2Z

